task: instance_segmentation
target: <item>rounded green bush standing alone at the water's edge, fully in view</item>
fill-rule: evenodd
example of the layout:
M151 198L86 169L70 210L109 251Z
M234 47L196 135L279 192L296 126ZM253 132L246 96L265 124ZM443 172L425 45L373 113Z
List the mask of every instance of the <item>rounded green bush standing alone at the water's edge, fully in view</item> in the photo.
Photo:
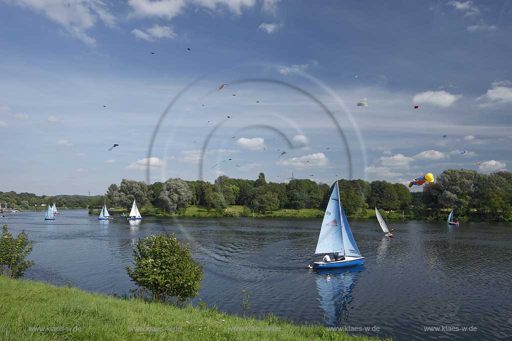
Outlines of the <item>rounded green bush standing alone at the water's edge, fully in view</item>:
M139 239L133 251L134 268L125 266L131 280L154 301L185 302L201 288L203 266L192 257L188 244L182 246L173 234Z

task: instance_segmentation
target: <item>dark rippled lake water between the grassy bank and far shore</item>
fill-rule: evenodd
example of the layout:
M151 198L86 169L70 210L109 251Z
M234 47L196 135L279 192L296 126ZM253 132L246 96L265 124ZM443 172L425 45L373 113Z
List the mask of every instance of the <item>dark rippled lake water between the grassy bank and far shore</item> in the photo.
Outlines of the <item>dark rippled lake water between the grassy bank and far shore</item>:
M100 222L81 210L62 211L54 221L43 217L18 212L0 221L34 240L35 265L26 279L127 293L134 286L123 265L132 265L137 239L174 232L204 263L199 297L220 310L241 313L243 288L252 292L252 314L360 327L361 334L398 340L512 335L510 223L449 228L444 222L392 220L395 237L389 239L376 220L352 219L365 264L317 272L306 266L322 258L313 255L321 219L147 217L131 224L121 217ZM439 331L425 331L431 327Z

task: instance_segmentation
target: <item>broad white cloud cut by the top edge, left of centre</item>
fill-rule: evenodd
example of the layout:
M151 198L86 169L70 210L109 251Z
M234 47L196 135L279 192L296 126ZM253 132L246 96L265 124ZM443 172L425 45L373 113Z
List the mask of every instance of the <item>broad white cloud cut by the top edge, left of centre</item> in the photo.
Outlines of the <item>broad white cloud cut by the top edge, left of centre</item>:
M135 16L154 16L168 20L182 13L189 4L202 6L211 11L220 11L226 7L231 13L240 15L242 8L254 6L255 0L129 0Z

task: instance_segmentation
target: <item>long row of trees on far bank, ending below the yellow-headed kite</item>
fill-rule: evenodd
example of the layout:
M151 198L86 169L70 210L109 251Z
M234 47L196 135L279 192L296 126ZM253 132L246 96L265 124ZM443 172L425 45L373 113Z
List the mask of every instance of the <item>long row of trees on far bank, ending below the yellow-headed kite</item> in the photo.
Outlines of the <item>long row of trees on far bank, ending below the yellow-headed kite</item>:
M409 207L412 196L402 184L387 181L346 180L338 181L345 212L356 215L359 211L377 206L384 210ZM250 207L256 212L267 213L280 209L325 209L333 184L315 183L309 179L293 179L289 183L267 182L265 174L258 179L219 176L213 184L208 181L186 181L170 178L165 182L146 185L143 181L122 179L121 184L110 185L106 192L109 204L129 209L133 200L146 214L156 210L183 213L188 206L196 205L222 212L230 205Z

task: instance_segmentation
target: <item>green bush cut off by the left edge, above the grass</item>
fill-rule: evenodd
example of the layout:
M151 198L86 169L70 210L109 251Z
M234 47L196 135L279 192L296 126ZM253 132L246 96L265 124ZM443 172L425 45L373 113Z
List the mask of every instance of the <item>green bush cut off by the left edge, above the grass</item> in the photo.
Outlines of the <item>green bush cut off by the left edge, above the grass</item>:
M32 245L33 241L29 240L29 235L25 231L14 238L4 224L0 238L0 275L10 278L22 277L25 270L34 265L34 261L25 260L32 251Z

